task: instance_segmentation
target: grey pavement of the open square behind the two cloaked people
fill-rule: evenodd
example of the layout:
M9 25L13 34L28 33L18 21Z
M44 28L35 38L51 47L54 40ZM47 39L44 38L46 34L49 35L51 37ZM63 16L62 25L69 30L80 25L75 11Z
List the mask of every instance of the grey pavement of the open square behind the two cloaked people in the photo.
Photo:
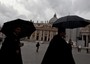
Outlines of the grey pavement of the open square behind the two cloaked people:
M21 47L23 64L41 64L48 44L40 44L39 52L36 52L36 43L22 41L24 46ZM72 50L76 64L90 64L90 53L86 50L78 52L77 48Z

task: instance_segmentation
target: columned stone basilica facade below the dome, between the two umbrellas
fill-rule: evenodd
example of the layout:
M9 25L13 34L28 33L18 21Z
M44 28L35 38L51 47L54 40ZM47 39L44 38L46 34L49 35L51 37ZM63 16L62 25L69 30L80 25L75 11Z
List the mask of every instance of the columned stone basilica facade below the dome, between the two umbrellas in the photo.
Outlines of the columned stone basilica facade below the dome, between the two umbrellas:
M42 26L41 26L42 25ZM57 34L57 29L52 28L51 24L35 24L36 31L30 36L30 41L50 41L55 34Z

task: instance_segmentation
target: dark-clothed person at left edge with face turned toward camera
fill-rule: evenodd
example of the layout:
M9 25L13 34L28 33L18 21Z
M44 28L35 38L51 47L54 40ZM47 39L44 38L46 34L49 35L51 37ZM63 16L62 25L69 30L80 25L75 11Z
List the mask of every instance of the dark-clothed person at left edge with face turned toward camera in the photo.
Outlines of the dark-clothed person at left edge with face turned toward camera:
M20 43L21 28L15 27L13 32L6 36L0 50L1 64L23 64L20 47L24 44Z

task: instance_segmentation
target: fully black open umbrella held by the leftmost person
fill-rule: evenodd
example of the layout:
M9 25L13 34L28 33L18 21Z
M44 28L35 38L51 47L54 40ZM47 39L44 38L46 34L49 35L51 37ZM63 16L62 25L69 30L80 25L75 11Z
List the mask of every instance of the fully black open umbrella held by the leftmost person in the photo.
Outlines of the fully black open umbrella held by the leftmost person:
M20 33L20 38L30 36L36 30L33 25L33 22L22 19L15 19L12 21L5 22L1 28L1 32L8 36L13 32L13 29L15 27L21 27L22 29Z

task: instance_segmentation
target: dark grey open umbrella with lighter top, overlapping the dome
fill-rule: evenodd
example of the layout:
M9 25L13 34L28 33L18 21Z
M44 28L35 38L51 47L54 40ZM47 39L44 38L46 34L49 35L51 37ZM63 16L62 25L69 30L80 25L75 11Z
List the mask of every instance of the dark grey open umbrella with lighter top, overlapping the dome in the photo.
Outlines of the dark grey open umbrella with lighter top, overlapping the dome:
M69 28L69 29L85 27L88 24L90 24L90 22L88 21L89 20L86 20L77 15L64 16L64 17L57 19L53 23L53 27L57 27L57 28L64 27L64 28Z

